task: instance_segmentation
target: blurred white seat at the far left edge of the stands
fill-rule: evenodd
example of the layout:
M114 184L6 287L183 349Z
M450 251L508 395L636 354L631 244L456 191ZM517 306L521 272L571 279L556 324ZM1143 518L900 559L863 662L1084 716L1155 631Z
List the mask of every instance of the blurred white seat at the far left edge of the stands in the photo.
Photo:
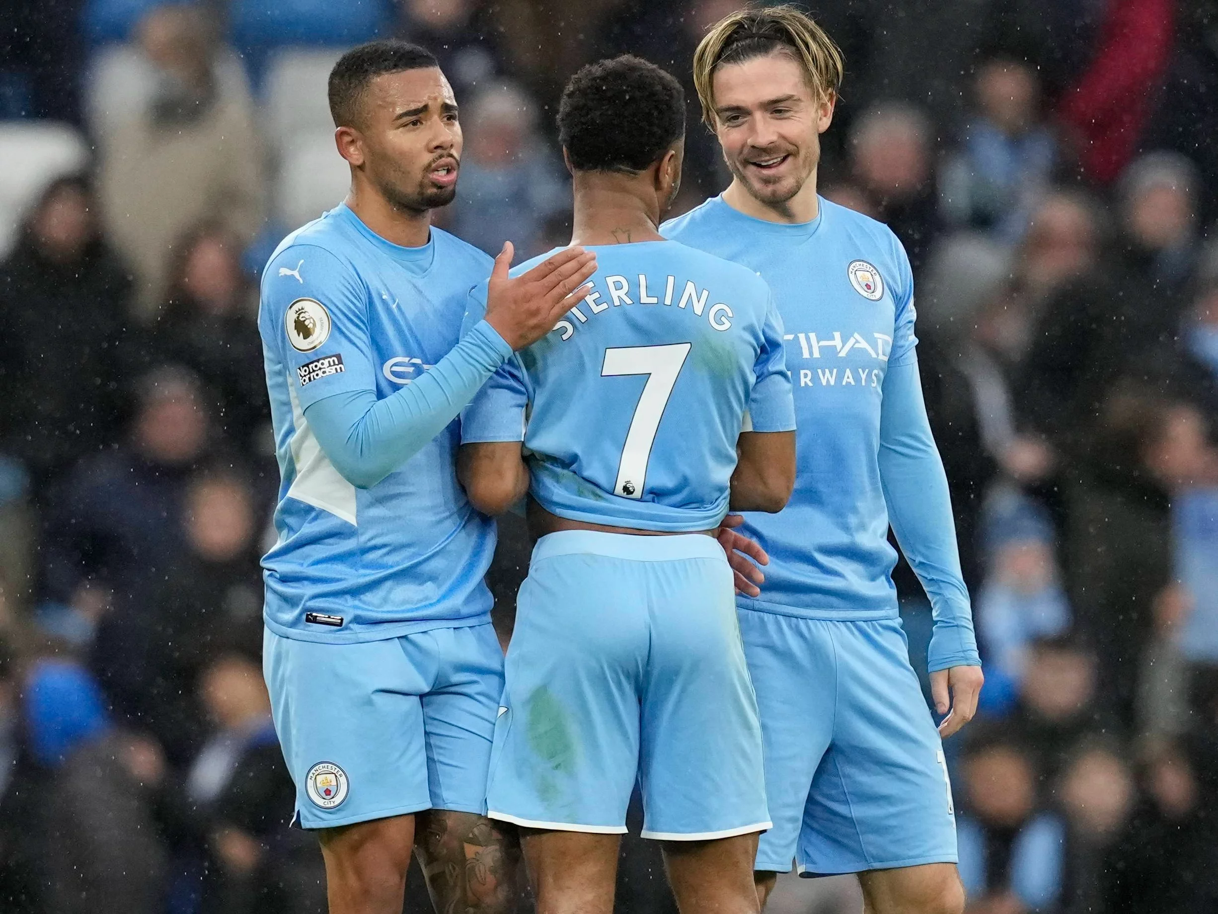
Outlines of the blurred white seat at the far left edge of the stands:
M67 124L0 123L0 256L12 247L26 210L43 189L88 163L89 146Z

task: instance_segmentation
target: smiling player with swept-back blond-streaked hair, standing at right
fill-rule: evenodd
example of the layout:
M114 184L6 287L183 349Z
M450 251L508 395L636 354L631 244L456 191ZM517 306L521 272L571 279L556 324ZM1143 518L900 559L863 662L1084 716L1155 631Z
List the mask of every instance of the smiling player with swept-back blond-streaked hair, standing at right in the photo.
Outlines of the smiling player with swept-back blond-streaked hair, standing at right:
M795 494L744 531L770 554L738 601L766 746L767 896L804 875L857 873L867 910L959 914L942 736L977 706L982 673L943 463L927 423L914 288L884 225L816 195L842 56L792 6L717 23L694 57L731 186L665 236L738 261L773 289L799 420ZM898 617L889 525L931 597L938 732Z

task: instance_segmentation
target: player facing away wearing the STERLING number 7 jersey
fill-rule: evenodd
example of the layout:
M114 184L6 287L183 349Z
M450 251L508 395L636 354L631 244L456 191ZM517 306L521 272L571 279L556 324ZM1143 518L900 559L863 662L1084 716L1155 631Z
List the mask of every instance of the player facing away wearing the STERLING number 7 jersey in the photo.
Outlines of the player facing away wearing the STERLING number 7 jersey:
M590 65L558 122L572 243L598 272L462 419L470 500L498 513L527 491L541 536L508 648L488 815L521 826L540 912L609 914L637 779L643 836L664 842L680 908L747 914L770 823L714 534L728 506L778 511L790 495L782 323L753 271L657 232L681 173L680 83L637 57ZM466 323L484 301L480 288Z

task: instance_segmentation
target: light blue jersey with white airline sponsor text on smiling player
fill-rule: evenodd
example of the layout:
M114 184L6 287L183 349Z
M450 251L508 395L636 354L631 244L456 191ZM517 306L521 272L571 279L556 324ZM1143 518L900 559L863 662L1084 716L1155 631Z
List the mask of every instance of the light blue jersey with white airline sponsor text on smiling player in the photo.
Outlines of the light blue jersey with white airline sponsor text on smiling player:
M890 366L916 358L909 260L883 224L820 200L804 224L755 219L713 197L664 223L666 238L758 271L786 323L795 394L798 481L780 514L748 514L770 553L759 600L814 618L896 614L879 406Z

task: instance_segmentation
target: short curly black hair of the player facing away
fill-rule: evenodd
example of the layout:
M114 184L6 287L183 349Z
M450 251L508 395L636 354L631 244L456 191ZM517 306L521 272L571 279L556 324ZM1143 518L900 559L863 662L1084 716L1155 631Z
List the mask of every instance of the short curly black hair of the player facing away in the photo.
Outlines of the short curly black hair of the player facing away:
M637 173L685 135L685 90L633 55L588 63L563 90L558 135L581 172Z

